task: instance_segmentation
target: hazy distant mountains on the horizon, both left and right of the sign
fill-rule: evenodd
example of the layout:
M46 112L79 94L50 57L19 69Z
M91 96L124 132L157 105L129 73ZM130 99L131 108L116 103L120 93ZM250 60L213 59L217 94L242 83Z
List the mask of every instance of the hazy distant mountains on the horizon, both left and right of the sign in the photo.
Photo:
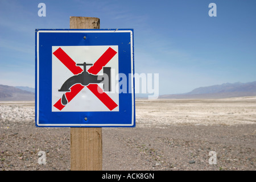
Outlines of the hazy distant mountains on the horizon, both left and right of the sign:
M183 94L167 94L159 99L229 98L256 96L256 81L205 86ZM28 86L0 85L0 101L34 101L35 89Z

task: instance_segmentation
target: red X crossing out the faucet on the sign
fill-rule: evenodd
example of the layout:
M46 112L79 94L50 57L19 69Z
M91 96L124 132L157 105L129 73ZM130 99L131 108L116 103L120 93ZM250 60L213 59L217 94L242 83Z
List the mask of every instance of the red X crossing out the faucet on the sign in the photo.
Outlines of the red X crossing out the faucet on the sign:
M92 67L88 69L88 72L97 75L98 72L101 71L101 69L114 57L114 55L117 52L114 51L112 48L108 48L103 55L93 64ZM77 67L75 61L71 59L63 51L63 49L58 48L55 52L53 52L53 55L57 57L63 63L74 75L77 75L81 73L83 70L80 67ZM84 88L81 84L76 84L71 86L71 92L66 92L65 96L70 102L82 89ZM89 84L87 85L87 88L106 106L109 110L113 110L118 105L106 94L103 92L103 90L98 86L97 84ZM57 109L62 110L65 105L61 104L61 98L58 100L53 106L55 106Z

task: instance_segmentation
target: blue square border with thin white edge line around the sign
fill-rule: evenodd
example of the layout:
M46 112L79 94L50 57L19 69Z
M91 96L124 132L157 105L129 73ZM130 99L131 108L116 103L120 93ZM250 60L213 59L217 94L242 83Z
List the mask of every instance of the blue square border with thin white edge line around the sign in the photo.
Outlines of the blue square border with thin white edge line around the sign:
M135 127L133 39L133 29L36 29L36 126ZM131 77L127 93L119 93L119 111L52 112L52 46L118 46L119 73Z

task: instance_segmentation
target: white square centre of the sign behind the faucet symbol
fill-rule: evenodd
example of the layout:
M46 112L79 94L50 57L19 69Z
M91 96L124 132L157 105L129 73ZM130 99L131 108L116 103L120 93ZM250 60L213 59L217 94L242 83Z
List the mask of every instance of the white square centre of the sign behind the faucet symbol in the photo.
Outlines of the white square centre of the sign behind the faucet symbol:
M62 52L59 50L61 49ZM109 61L104 64L102 69L98 69L97 73L91 74L88 70L90 67L95 65L96 61L100 61L100 57L104 55L104 53L111 49L114 52L114 56L110 57ZM56 52L58 52L58 55ZM66 55L65 55L66 54ZM57 56L56 56L57 55ZM109 109L102 100L97 97L97 94L93 93L91 89L89 89L88 85L83 85L79 82L80 78L83 77L81 74L72 73L70 68L65 65L65 58L61 58L61 56L69 56L71 61L73 60L76 64L75 67L80 67L82 72L88 72L90 76L104 76L104 68L110 69L110 88L108 91L104 90L104 84L102 82L91 81L89 83L90 86L92 84L94 86L99 86L104 94L108 95L109 100L112 100L115 104L114 109ZM63 60L62 60L63 59ZM86 65L86 71L84 70L84 66ZM80 65L77 65L80 64ZM74 66L73 65L73 66ZM87 73L86 73L87 74ZM77 76L77 77L74 77ZM109 75L108 75L109 76ZM73 78L71 78L73 77ZM79 78L78 78L79 77ZM87 77L89 77L87 75ZM87 79L86 77L86 79ZM117 78L117 79L116 79ZM67 81L69 79L69 81ZM90 78L91 79L91 78ZM70 80L72 84L70 84ZM104 78L105 80L105 78ZM68 100L68 103L65 104L63 100L63 94L71 93L72 86L74 83L78 86L82 87L81 91L76 94L72 100ZM119 111L119 93L115 92L115 85L118 85L118 46L52 46L52 111ZM66 89L63 89L66 88ZM71 89L70 89L71 88ZM70 89L68 91L68 89ZM63 105L63 107L56 107L58 101ZM64 103L64 104L63 104ZM59 104L60 105L60 104ZM58 109L59 108L59 109Z

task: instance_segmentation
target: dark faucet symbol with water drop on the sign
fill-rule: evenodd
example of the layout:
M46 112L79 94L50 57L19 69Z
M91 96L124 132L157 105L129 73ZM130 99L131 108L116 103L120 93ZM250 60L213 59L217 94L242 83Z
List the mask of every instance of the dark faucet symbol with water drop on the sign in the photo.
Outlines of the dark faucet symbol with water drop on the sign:
M68 78L64 82L64 84L59 89L59 92L70 92L70 88L75 84L81 84L84 86L87 86L89 84L98 84L103 83L103 89L104 92L110 92L111 91L111 68L110 67L103 67L103 75L92 75L86 71L87 65L93 65L93 64L86 64L85 62L82 64L76 64L77 66L84 66L84 71L81 72L78 75L72 76ZM63 94L61 98L61 104L67 105L68 101L65 97L65 94Z

